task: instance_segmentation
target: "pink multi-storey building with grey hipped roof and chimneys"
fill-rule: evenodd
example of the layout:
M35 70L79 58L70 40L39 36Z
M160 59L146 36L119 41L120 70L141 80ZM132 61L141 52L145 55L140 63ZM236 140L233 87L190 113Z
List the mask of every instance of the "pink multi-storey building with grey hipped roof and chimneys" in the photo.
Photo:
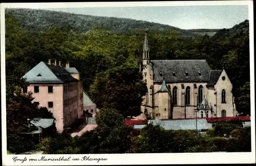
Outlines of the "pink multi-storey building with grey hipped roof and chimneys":
M31 91L39 107L46 107L56 119L56 129L63 129L74 123L83 114L83 88L80 74L75 67L66 67L49 62L40 62L23 78L29 86L23 92Z

